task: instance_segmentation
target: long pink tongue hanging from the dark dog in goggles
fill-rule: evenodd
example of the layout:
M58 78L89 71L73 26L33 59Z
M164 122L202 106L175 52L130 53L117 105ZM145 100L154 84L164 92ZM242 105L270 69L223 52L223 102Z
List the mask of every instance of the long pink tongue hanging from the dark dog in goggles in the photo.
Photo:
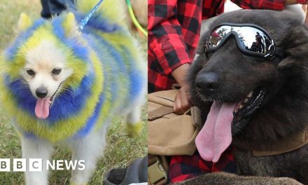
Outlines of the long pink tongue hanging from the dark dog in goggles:
M195 143L200 156L216 163L232 142L231 123L235 104L214 102Z

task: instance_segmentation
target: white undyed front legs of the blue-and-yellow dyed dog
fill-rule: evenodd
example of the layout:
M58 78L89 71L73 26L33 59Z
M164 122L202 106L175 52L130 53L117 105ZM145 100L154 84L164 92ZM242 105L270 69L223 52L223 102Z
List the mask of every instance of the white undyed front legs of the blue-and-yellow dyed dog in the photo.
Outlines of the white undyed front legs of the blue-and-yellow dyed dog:
M71 147L73 155L71 160L85 160L85 170L72 170L71 183L76 185L87 184L92 176L97 161L104 154L106 145L106 130L109 123L98 131L92 131L89 135L79 139L69 139L62 144ZM22 137L22 158L42 158L42 172L25 172L26 185L48 185L48 171L46 169L46 160L50 160L52 156L53 146L49 142L42 139L29 139ZM27 167L29 167L27 160Z

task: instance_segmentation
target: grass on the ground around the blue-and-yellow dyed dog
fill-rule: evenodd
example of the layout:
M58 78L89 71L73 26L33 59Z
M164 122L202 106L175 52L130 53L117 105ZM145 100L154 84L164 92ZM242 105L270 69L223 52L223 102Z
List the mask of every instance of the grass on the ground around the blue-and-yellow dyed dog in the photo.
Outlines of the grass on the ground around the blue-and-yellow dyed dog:
M25 12L31 18L39 18L41 4L39 0L1 0L0 2L0 50L3 50L13 39L14 27L20 13ZM135 34L139 37L139 34ZM142 43L144 56L146 56L146 38L139 38ZM146 60L145 60L146 61ZM146 69L145 69L146 70ZM91 185L102 184L102 176L113 167L125 167L136 157L145 156L147 153L147 129L146 109L144 109L144 130L137 138L130 138L125 132L125 124L122 119L117 119L109 128L107 147L104 158L99 161L97 171L90 181ZM57 146L53 159L69 159L71 153L68 149ZM20 139L10 125L10 118L6 114L5 107L0 102L0 158L21 158ZM50 184L69 184L70 172L52 171L50 173ZM0 172L1 185L24 184L22 172Z

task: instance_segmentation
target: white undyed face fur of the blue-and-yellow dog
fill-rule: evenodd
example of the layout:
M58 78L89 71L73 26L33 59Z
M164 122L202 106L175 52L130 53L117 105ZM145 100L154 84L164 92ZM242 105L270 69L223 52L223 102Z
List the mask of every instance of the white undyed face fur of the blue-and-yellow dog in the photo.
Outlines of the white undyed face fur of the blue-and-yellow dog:
M27 81L32 94L36 97L36 89L39 87L47 88L48 95L51 97L57 91L60 83L68 78L73 69L66 67L66 56L63 51L52 41L44 40L35 48L26 53L26 63L24 69L20 71L22 77ZM62 69L59 75L52 74L52 69ZM31 69L36 74L30 76L27 70Z

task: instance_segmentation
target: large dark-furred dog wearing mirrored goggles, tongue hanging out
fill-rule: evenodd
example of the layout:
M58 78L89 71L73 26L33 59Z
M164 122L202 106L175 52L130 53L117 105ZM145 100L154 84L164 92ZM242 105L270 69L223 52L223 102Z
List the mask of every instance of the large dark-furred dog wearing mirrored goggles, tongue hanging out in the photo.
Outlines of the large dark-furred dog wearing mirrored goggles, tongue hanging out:
M235 11L205 32L188 72L200 156L236 174L182 184L308 184L308 29L290 13ZM230 172L232 170L229 170Z

